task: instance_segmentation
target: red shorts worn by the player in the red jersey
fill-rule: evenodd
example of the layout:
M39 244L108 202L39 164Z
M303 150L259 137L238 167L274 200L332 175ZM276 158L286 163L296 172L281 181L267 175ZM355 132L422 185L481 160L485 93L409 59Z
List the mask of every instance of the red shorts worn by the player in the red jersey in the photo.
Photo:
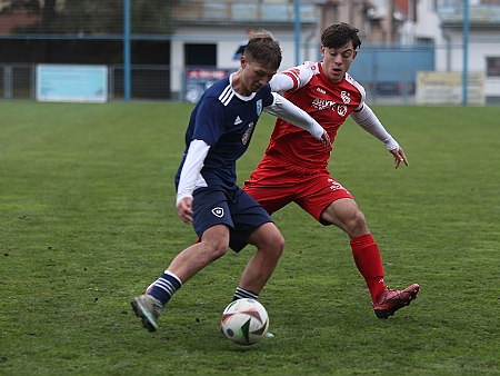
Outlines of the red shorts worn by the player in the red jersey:
M264 156L243 189L270 215L293 201L323 225L331 225L321 220L331 202L353 199L327 168L302 168L274 156Z

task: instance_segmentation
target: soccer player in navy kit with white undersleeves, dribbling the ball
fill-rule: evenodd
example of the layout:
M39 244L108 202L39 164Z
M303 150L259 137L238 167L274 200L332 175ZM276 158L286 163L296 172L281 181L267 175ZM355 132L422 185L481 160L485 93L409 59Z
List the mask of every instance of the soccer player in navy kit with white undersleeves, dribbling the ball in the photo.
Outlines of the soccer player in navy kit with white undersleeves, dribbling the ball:
M240 69L213 83L191 113L186 152L177 184L177 212L193 225L200 241L182 250L148 294L131 305L143 326L154 332L172 295L230 247L247 244L257 251L249 260L234 298L258 298L276 269L284 240L269 214L237 185L236 161L247 150L262 111L306 129L323 148L324 129L303 110L272 93L268 82L281 63L281 50L269 32L250 39Z

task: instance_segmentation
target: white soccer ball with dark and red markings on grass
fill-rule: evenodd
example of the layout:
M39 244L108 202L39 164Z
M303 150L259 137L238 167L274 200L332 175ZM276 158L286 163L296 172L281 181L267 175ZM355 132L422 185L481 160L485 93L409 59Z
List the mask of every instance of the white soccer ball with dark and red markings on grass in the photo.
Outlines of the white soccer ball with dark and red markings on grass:
M254 345L268 332L269 316L254 299L231 301L222 313L221 332L238 345Z

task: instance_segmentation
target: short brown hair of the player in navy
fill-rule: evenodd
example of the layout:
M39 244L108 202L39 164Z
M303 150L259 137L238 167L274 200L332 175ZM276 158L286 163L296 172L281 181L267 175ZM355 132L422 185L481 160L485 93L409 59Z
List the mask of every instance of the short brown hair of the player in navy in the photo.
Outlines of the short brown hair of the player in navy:
M243 53L248 62L257 62L278 70L281 65L280 42L269 31L260 30L248 41Z

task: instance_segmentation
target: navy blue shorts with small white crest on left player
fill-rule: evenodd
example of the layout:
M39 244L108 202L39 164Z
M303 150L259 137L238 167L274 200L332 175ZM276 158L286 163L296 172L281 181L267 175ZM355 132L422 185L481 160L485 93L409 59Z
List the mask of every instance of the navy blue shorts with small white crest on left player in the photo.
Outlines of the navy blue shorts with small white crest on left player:
M193 192L192 226L198 237L216 225L228 225L229 247L239 253L248 237L261 225L272 222L271 216L240 188L220 186L198 188Z

